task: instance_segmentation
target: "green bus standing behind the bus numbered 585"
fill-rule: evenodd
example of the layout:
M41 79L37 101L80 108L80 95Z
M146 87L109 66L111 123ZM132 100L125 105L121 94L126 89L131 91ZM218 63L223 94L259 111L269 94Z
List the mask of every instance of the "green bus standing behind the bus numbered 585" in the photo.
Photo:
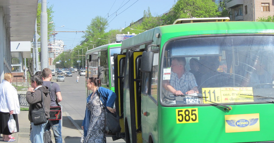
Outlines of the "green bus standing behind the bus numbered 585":
M86 52L86 80L100 77L102 86L114 91L114 54L121 51L121 43L106 44ZM86 89L86 96L90 95Z

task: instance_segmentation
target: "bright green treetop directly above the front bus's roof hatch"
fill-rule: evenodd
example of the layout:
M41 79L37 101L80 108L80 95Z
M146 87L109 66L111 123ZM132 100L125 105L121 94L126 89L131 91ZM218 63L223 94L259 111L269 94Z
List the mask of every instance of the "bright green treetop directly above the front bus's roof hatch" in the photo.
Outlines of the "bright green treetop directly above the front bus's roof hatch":
M163 24L172 24L180 18L206 18L220 16L218 6L212 0L178 0L166 15Z

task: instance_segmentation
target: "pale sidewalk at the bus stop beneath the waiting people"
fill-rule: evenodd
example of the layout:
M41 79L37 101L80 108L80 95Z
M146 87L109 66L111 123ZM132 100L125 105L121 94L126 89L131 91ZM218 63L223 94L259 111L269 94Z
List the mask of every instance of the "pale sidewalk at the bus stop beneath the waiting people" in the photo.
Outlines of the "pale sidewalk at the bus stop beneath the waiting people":
M30 142L30 121L28 119L29 111L20 111L18 114L19 120L19 133L12 134L16 141L12 143L31 143ZM70 117L67 112L62 112L62 138L63 143L80 143L83 130L78 124ZM2 137L1 137L2 139ZM51 130L51 141L55 143L53 132ZM123 139L112 141L111 136L107 135L107 143L124 143Z

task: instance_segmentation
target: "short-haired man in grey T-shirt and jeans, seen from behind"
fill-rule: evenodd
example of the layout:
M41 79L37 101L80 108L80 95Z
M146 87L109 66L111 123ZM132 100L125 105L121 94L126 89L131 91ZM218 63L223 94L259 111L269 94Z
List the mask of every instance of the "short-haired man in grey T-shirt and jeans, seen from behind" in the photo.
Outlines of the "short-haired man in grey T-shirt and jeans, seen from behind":
M44 85L50 88L51 79L52 79L51 70L49 68L44 68L42 71L42 74L44 77L44 80L43 80ZM57 102L59 103L60 101L62 101L60 87L57 83L54 82L51 86L51 93L50 93L52 107L57 106L55 102L55 94L57 96ZM61 120L48 120L48 123L44 130L49 131L50 128L53 131L55 143L62 143Z

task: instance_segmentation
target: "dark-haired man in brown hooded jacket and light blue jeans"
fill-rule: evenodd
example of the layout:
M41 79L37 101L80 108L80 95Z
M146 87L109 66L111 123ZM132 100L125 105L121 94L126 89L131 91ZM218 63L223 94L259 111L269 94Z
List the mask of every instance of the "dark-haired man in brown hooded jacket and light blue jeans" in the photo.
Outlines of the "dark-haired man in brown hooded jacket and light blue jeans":
M39 109L44 108L46 118L48 120L49 118L49 110L50 110L50 104L51 99L48 95L48 88L46 86L42 86L43 79L40 75L33 75L30 78L31 87L28 88L28 91L26 92L26 101L30 104L29 107L29 120L32 127L32 130L30 132L30 141L32 143L43 143L43 137L44 137L44 127L47 123L40 124L40 125L34 125L33 120L31 117L31 113L33 109ZM41 95L43 97L43 104Z

